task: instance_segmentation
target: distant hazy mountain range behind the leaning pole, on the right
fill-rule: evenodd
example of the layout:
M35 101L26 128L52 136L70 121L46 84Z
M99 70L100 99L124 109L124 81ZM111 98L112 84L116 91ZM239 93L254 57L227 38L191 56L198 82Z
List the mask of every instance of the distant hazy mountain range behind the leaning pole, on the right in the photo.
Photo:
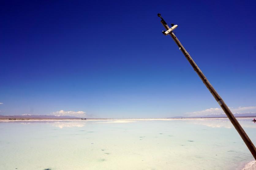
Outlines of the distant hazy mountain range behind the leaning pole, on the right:
M236 118L239 117L256 117L256 113L248 112L248 113L234 113ZM170 118L226 118L226 114L212 114L212 115L204 115L204 116L175 116Z

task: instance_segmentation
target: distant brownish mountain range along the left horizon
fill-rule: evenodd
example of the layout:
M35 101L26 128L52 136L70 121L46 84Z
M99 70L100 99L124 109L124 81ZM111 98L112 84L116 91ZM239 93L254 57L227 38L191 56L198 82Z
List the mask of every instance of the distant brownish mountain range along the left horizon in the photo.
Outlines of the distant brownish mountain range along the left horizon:
M55 115L0 115L0 119L81 119L75 116L55 116Z

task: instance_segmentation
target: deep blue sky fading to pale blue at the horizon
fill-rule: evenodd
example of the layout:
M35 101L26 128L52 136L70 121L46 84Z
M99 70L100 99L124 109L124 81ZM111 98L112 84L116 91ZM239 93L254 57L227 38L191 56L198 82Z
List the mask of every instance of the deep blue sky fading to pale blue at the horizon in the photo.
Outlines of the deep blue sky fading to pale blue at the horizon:
M256 112L255 5L1 1L0 114L163 118L219 108L161 33L159 12L226 104Z

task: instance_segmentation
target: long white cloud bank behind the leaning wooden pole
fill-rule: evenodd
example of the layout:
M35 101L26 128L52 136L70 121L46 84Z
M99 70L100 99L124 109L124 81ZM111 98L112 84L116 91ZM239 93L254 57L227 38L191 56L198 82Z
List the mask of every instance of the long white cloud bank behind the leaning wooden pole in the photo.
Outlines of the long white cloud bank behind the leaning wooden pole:
M233 114L235 113L248 113L256 112L256 106L249 107L238 107L238 108L229 108ZM209 108L196 112L187 112L188 116L205 116L205 115L221 115L224 114L222 108Z

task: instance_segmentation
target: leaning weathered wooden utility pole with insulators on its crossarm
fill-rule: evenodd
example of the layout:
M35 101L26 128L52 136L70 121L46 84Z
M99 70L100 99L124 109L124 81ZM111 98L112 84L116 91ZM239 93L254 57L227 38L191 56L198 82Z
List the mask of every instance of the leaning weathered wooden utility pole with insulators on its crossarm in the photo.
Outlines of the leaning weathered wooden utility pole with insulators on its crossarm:
M164 28L167 31L163 31L163 34L165 35L171 35L172 39L175 41L175 43L178 45L179 49L182 51L182 53L185 55L186 59L189 61L189 63L191 64L191 66L193 67L193 69L197 72L198 76L201 78L201 80L203 81L203 83L205 84L205 86L209 89L209 91L211 92L211 94L213 95L213 97L215 98L215 100L218 102L218 104L220 105L220 107L223 109L223 111L226 113L226 115L228 116L228 119L231 121L231 123L233 124L233 126L235 127L235 129L237 130L237 132L239 133L239 135L242 137L244 143L246 144L246 146L248 147L248 149L250 150L251 154L253 155L254 159L256 160L256 148L254 146L254 144L252 143L252 141L250 140L250 138L247 136L247 134L245 133L245 131L243 130L242 126L239 124L239 122L235 119L235 116L232 114L232 112L230 111L230 109L228 108L228 106L225 104L225 102L222 100L222 98L220 97L220 95L216 92L216 90L213 88L213 86L211 85L211 83L206 79L205 75L202 73L202 71L199 69L199 67L197 66L197 64L194 62L194 60L191 58L191 56L189 55L189 53L186 51L186 49L183 47L183 45L180 43L180 41L178 40L178 38L175 36L175 34L172 32L172 30L174 30L177 25L171 24L172 27L170 28L167 23L164 21L164 19L162 18L161 14L157 14L160 18L161 18L161 23L163 24Z

